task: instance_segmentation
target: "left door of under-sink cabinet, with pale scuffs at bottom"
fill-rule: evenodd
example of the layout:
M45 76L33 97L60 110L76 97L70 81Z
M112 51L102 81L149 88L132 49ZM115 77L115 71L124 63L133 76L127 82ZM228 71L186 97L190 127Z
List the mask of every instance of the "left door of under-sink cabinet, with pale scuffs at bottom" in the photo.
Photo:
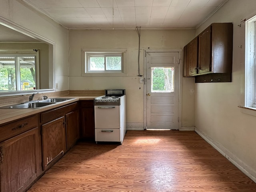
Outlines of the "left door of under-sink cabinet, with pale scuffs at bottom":
M57 156L64 153L64 116L42 125L44 169Z

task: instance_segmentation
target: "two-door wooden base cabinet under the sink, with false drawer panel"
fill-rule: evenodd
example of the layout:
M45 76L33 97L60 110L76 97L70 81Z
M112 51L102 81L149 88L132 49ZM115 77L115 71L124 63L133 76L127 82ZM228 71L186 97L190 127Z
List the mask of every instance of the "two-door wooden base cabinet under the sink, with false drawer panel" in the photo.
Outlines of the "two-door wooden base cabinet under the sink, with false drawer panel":
M78 103L40 114L44 170L56 162L78 138Z

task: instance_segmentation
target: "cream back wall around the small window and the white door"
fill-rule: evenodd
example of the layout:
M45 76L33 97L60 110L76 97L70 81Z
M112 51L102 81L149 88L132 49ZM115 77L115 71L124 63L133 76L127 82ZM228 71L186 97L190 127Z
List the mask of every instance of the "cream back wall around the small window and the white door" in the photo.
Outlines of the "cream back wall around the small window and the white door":
M140 74L144 70L144 51L182 49L195 36L195 30L143 30L140 37ZM81 76L82 48L125 48L128 73L125 77ZM182 58L182 56L181 56ZM70 30L70 90L126 89L127 128L143 129L144 84L138 83L138 34L136 30ZM182 62L181 62L182 65ZM194 127L194 78L182 82L182 126Z

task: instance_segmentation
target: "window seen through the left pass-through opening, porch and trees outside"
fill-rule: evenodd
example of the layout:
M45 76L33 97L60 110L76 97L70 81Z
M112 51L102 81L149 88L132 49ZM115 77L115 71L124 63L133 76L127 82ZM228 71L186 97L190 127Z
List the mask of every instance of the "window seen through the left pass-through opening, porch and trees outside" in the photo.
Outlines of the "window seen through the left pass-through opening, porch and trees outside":
M36 89L36 53L0 52L0 91Z

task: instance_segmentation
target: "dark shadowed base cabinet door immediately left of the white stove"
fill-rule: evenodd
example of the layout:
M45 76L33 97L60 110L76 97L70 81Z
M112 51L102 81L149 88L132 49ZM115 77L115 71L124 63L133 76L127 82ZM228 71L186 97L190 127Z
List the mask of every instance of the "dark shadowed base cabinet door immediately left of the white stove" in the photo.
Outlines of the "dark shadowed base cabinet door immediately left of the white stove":
M80 137L86 140L95 140L94 106L80 109Z

